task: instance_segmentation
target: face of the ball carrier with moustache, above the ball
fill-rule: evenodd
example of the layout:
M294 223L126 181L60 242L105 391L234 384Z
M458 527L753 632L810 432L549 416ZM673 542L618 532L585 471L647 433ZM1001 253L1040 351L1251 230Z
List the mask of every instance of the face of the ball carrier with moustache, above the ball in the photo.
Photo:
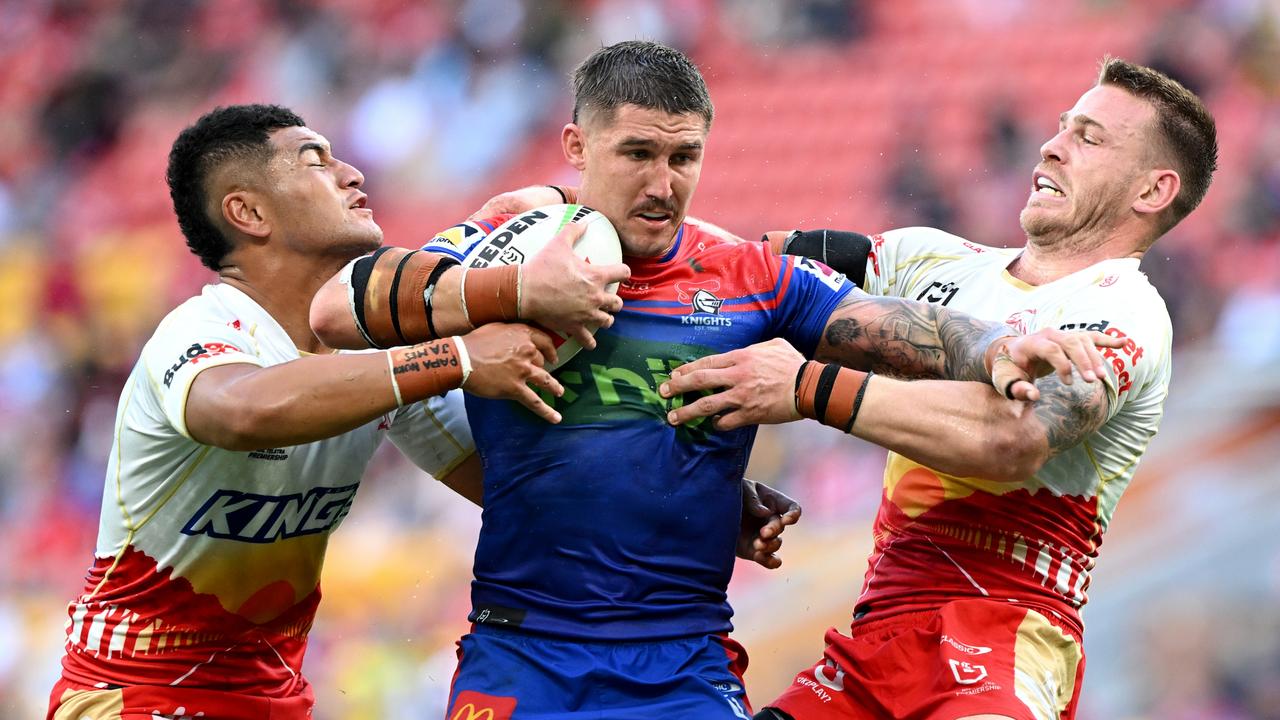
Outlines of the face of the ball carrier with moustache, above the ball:
M696 113L622 105L564 128L564 154L582 172L584 205L604 213L627 255L657 256L685 222L703 172L707 122Z

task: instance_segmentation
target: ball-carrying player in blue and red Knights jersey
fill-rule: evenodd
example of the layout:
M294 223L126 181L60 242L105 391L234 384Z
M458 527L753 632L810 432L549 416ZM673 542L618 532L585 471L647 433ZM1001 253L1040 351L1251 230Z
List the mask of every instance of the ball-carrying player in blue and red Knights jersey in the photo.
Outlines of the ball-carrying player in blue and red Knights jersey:
M1041 360L1092 373L1101 356L1083 333L1015 337L998 323L873 299L820 264L685 223L713 110L678 51L635 41L600 49L575 70L573 88L561 141L582 174L577 200L609 218L631 277L598 346L557 373L566 392L549 402L559 424L467 397L485 511L474 628L445 716L749 717L726 588L754 428L669 425L682 398L664 401L657 388L671 368L783 337L851 365L979 380L966 384L984 393L996 364L1010 374L1001 387L1025 393ZM448 251L506 218L463 223L428 247ZM385 284L375 281L376 270L366 287ZM384 300L374 292L365 302ZM370 336L340 279L316 296L312 320L330 343ZM817 389L826 404L831 388Z

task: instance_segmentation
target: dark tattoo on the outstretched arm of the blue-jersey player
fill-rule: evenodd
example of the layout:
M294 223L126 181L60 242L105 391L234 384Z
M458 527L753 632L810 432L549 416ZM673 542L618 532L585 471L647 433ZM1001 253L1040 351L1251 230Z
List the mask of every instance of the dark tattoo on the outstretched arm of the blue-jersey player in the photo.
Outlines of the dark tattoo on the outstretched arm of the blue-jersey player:
M991 382L987 347L1009 334L1000 323L937 305L854 292L827 320L817 356L906 379Z

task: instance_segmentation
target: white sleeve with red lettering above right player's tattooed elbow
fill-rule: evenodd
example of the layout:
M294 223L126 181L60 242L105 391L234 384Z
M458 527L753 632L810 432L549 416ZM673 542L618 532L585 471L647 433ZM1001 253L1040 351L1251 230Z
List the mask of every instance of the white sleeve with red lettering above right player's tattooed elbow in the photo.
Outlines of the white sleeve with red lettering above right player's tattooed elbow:
M1121 283L1138 282L1126 277ZM1029 331L1097 331L1124 341L1121 347L1100 347L1106 363L1110 407L1107 419L1151 386L1167 384L1172 325L1169 311L1153 292L1107 292L1097 286L1076 293L1069 304L1036 315Z

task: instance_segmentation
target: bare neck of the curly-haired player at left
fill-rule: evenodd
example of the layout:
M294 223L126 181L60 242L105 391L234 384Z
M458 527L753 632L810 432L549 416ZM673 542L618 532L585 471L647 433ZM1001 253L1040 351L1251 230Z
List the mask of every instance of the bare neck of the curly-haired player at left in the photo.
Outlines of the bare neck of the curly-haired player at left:
M338 269L271 265L275 266L228 265L218 275L261 305L294 347L303 352L324 352L326 347L311 332L311 299Z

